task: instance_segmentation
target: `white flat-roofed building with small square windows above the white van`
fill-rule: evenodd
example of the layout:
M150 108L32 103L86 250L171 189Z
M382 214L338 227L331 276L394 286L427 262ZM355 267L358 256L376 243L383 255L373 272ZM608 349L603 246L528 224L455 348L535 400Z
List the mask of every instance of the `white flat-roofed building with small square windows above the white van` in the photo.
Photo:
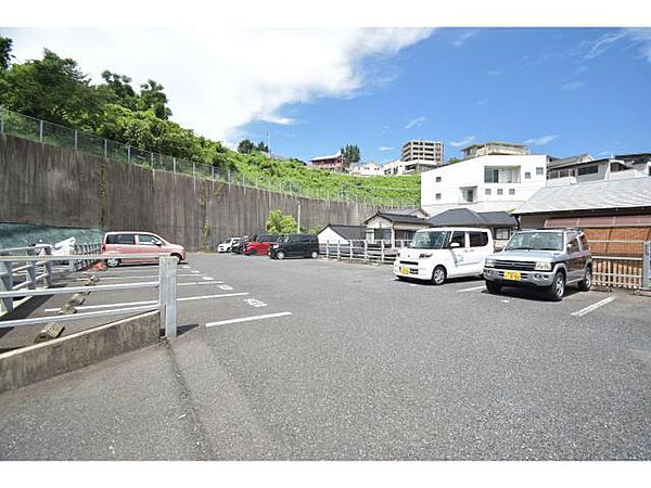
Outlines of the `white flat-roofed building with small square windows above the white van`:
M421 175L421 207L430 215L449 208L511 210L547 182L546 155L477 156Z

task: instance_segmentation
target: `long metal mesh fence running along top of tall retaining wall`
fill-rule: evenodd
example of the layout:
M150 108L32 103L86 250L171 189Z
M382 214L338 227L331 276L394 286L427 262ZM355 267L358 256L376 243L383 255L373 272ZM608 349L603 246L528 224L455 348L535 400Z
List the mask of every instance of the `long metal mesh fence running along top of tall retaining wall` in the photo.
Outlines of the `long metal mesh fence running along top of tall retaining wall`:
M69 127L60 126L26 115L17 114L0 106L0 134L9 134L31 141L72 149L81 153L103 156L110 159L133 164L141 168L192 176L193 178L220 181L228 184L256 188L294 196L334 202L356 202L369 206L393 208L418 207L420 201L407 193L413 190L386 188L405 192L405 197L392 198L378 195L354 195L349 190L326 190L304 188L272 177L252 177L220 167L195 163L179 157L154 153L129 144L104 139Z

